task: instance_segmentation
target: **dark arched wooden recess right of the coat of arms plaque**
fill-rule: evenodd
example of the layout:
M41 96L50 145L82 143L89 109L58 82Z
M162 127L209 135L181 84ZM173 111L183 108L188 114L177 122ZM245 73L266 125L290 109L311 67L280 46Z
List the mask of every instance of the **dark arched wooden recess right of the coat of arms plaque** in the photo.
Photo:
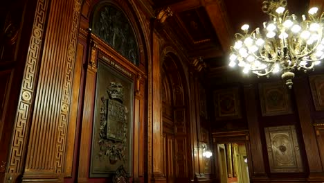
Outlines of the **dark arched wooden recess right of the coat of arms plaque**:
M168 52L161 67L163 162L168 182L188 181L191 175L188 87L179 57Z

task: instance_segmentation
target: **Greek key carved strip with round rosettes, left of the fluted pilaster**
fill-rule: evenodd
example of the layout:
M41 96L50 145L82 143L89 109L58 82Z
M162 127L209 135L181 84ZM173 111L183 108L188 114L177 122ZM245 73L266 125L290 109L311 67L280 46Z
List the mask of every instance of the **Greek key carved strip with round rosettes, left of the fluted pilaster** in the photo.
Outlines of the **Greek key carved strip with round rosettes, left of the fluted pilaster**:
M31 103L35 89L35 70L39 64L39 53L44 32L46 11L48 10L47 0L38 0L36 15L30 37L30 47L24 70L24 78L21 85L21 98L19 98L18 110L15 119L14 132L10 159L8 162L8 173L21 173L23 168L23 155L26 148L28 127L30 121Z

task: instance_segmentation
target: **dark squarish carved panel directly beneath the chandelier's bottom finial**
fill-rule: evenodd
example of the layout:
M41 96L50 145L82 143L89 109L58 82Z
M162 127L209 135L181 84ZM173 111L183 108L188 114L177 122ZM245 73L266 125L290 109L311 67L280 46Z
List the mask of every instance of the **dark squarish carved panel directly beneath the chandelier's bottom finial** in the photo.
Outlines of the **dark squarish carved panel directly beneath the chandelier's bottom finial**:
M263 116L291 114L291 99L287 86L282 82L259 84L261 110Z

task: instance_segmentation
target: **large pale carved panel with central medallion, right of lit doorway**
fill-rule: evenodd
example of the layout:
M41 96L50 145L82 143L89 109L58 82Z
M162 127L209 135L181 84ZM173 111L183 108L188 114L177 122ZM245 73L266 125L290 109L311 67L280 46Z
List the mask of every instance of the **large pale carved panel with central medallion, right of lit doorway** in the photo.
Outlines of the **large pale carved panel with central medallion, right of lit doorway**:
M264 128L271 173L303 172L294 125Z

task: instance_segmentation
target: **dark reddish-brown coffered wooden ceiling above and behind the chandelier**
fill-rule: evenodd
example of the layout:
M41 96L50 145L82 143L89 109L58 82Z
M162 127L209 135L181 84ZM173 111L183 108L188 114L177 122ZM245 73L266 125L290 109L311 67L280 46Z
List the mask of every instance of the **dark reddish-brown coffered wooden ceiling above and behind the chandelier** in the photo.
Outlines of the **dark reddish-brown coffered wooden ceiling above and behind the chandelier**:
M226 69L228 51L234 33L242 24L251 29L262 26L268 17L262 10L263 0L152 0L153 8L170 7L173 16L168 24L192 57L201 56L210 71ZM323 11L323 0L288 0L290 13L302 15L309 6Z

